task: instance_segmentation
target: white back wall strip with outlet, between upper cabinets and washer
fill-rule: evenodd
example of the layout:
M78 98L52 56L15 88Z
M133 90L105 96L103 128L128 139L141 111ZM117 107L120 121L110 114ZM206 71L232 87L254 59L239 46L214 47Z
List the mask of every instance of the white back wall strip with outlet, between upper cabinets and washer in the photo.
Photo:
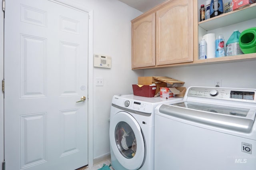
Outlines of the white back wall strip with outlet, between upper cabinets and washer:
M167 76L185 81L183 87L214 87L214 79L222 80L222 87L256 88L256 60L150 69L144 76Z

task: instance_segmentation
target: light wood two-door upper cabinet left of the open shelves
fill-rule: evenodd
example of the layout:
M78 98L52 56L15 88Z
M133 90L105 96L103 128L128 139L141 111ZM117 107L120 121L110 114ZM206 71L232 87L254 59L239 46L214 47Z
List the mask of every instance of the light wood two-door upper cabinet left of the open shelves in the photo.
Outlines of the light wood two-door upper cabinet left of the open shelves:
M132 20L132 69L193 61L192 2L166 1Z

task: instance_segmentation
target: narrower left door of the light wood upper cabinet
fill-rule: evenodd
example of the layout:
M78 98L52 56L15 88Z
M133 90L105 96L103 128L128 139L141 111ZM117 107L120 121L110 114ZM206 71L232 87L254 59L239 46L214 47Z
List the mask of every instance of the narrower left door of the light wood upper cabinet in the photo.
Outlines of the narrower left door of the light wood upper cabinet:
M132 23L132 68L155 65L155 13Z

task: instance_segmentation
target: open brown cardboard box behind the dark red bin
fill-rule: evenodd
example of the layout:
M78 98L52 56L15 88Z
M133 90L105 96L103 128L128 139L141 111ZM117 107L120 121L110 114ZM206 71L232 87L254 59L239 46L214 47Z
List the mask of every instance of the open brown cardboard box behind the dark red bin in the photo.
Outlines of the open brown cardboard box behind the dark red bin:
M167 83L154 79L152 76L150 77L138 77L138 85L151 85L156 84L156 92L157 94L160 91L160 87L167 87Z

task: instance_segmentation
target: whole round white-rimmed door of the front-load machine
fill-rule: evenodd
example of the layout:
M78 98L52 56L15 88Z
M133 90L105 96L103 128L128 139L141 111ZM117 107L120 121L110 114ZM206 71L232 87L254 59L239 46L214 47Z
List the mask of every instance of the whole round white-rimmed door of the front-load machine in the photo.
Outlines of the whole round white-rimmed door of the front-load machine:
M121 111L111 117L109 136L113 154L124 168L137 170L144 164L144 136L132 115Z

